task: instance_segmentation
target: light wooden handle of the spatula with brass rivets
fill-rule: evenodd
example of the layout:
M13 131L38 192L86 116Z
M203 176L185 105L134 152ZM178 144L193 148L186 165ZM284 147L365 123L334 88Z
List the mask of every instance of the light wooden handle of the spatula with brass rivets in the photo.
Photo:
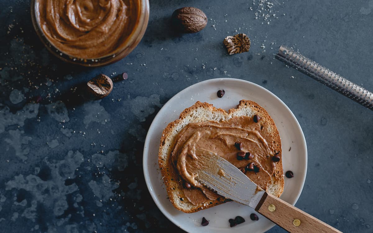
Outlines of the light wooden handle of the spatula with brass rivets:
M341 233L334 227L267 192L264 193L255 210L291 233Z

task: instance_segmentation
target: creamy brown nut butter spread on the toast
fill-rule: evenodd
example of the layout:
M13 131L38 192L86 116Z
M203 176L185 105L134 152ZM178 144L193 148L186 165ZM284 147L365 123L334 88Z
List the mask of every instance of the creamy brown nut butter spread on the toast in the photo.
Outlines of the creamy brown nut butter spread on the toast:
M245 171L245 167L254 162L260 170L246 171L245 174L261 189L266 190L271 183L276 163L272 161L275 154L275 140L269 127L261 127L261 122L255 123L253 118L247 116L233 117L223 122L189 123L175 138L171 151L171 163L180 175L182 182L188 182L192 188L184 188L184 195L194 205L216 200L220 196L210 191L195 179L196 174L188 172L188 164L198 159L199 149L214 152L227 161ZM238 160L235 147L236 142L243 145L242 151L250 152L254 158Z

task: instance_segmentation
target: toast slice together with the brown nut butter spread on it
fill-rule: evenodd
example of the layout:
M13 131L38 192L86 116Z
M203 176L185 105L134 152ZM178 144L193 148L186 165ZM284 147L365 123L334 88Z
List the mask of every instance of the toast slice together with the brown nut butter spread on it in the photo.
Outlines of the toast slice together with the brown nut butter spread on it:
M253 120L254 115L259 121ZM239 159L241 151L251 155ZM184 212L195 212L226 201L199 183L189 166L195 166L198 149L214 152L238 167L261 189L280 196L283 191L281 142L272 118L264 108L253 101L241 100L238 108L226 113L208 103L197 102L186 108L180 118L170 123L163 131L159 165L170 201ZM254 163L256 169L248 169ZM246 168L246 169L245 169ZM187 182L189 188L184 183Z

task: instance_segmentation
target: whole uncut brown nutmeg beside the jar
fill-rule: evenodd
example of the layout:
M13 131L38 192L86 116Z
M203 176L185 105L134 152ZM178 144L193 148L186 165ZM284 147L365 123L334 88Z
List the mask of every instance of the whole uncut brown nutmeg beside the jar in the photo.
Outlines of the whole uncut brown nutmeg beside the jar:
M183 7L173 12L172 26L184 33L201 31L207 24L207 16L202 10L195 7Z

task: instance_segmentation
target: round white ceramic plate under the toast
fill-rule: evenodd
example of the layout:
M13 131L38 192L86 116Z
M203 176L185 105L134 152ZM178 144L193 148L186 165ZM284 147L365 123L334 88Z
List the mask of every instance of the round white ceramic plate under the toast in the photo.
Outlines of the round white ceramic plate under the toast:
M216 92L225 90L223 98ZM145 139L143 168L149 192L162 213L176 226L186 232L265 232L274 224L258 214L258 221L251 221L250 214L255 211L236 202L228 202L192 214L176 210L167 198L166 188L158 166L158 149L163 129L168 123L179 118L182 110L196 101L208 102L217 108L229 110L235 108L239 100L252 100L264 107L275 121L282 144L282 166L284 173L294 172L294 178L285 177L285 188L281 199L295 204L301 194L307 171L307 147L301 127L294 114L276 95L252 82L241 79L210 79L185 88L172 97L161 108L151 124ZM289 151L291 147L291 150ZM245 218L245 223L229 227L229 218ZM210 221L201 226L202 217Z

